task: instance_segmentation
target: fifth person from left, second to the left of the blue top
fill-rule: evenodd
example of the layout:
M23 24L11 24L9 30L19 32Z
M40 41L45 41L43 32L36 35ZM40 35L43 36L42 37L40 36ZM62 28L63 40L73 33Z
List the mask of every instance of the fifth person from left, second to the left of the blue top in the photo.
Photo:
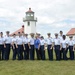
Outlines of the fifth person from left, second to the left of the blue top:
M28 34L24 34L23 38L23 49L24 49L24 59L29 59L29 47L28 47Z

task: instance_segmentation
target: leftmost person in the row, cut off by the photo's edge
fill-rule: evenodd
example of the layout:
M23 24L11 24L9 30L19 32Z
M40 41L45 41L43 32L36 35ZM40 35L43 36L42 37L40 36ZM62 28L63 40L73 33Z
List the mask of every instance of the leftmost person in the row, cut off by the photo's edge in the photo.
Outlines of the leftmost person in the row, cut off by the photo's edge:
M4 60L4 38L3 38L3 32L0 32L0 60Z

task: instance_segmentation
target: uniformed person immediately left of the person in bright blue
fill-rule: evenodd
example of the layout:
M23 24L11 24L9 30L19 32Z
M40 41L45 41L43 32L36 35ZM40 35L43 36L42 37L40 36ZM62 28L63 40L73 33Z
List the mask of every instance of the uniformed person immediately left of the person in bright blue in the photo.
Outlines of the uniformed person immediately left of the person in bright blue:
M34 33L31 33L31 38L29 39L29 55L30 55L30 60L34 60Z

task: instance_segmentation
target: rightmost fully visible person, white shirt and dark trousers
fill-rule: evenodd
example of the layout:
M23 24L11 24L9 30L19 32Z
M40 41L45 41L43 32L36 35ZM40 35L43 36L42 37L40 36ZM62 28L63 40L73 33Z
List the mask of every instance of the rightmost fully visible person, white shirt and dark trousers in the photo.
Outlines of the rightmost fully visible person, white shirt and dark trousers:
M70 40L68 41L68 46L69 46L69 53L70 53L70 60L74 60L74 40L73 40L73 36L69 37Z

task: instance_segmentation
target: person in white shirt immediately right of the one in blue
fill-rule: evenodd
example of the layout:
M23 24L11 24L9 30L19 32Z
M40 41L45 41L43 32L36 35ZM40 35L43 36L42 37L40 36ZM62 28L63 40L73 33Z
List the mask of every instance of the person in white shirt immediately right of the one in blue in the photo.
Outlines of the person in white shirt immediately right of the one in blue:
M41 52L41 59L45 60L45 40L43 36L41 36L40 39L40 52Z

